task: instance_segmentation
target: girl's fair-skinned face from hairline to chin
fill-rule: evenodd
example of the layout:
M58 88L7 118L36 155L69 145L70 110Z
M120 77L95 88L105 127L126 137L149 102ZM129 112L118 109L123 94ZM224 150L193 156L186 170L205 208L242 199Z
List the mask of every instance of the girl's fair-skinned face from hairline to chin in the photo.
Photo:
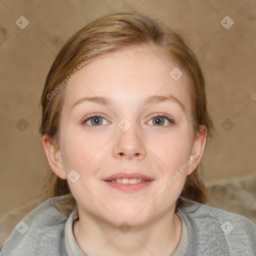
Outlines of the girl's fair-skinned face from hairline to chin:
M129 47L96 57L66 86L63 167L50 164L69 177L79 215L140 226L174 212L204 147L192 137L188 79L169 75L176 66L157 49Z

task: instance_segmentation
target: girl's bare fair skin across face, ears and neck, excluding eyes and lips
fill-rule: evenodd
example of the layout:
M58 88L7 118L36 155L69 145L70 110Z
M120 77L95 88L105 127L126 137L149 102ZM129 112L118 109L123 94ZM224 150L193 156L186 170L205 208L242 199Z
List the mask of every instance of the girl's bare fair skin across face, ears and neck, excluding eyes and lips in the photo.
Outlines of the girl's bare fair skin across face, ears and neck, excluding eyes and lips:
M74 183L67 180L79 214L73 232L88 255L170 255L179 242L181 221L174 214L175 201L186 175L200 162L206 128L192 137L188 78L183 72L175 81L169 75L175 66L156 48L127 47L95 57L65 87L59 148L47 136L42 139L59 177L66 178L72 169L80 175ZM184 111L173 100L143 102L151 95L170 94L182 102ZM82 101L72 107L88 96L106 96L114 104ZM93 119L81 124L93 114L103 118L102 124L92 125ZM159 114L174 123L161 119L163 125L156 125ZM123 118L131 124L127 131L118 126ZM197 159L150 202L148 197L198 151ZM143 189L124 192L103 181L118 172L138 172L154 180ZM123 221L131 227L125 233L118 228Z

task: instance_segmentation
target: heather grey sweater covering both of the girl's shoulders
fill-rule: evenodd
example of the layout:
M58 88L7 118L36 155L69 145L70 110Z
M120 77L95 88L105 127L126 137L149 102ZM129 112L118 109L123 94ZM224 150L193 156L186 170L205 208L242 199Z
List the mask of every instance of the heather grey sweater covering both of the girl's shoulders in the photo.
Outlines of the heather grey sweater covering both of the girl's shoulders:
M67 256L64 237L68 217L55 207L54 199L59 198L50 198L27 214L3 244L0 255ZM241 215L180 198L184 206L178 212L186 225L184 256L256 255L254 223Z

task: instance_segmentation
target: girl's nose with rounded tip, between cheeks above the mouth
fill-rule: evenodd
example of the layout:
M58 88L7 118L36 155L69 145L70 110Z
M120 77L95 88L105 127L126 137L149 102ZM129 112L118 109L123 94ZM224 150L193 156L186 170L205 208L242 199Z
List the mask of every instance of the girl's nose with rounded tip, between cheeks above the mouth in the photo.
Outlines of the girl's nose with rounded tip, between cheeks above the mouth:
M112 151L113 156L128 160L132 158L142 160L146 156L146 146L135 125L131 125L126 131L121 130L118 126L117 129Z

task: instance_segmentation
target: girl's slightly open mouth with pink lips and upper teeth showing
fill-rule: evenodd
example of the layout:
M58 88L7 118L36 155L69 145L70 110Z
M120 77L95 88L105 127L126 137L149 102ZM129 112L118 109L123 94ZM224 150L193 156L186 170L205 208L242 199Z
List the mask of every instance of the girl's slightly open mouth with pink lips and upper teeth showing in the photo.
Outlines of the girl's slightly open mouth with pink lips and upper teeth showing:
M135 192L151 184L154 179L140 173L116 173L103 181L116 189Z

